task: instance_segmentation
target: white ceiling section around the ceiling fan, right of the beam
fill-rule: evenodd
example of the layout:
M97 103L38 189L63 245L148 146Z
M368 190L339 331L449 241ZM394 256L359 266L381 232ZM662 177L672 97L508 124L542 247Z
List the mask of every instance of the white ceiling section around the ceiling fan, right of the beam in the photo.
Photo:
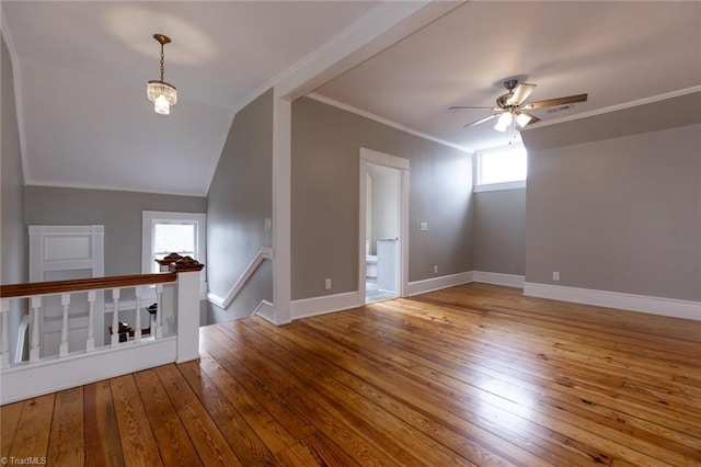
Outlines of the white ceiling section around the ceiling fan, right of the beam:
M495 106L512 77L538 84L527 102L589 94L542 124L699 87L701 2L471 1L317 93L475 151L509 135L448 107Z

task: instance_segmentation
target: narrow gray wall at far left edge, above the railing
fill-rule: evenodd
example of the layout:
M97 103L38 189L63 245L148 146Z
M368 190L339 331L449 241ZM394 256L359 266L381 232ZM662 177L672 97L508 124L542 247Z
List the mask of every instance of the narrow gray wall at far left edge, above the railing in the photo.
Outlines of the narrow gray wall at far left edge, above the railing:
M14 103L14 84L12 62L4 38L0 38L1 72L0 84L2 102L2 159L0 181L2 206L0 230L2 246L0 248L0 283L16 284L27 281L26 273L26 235L24 230L24 176L22 173L22 153L18 130L16 109ZM24 310L19 301L12 303L10 309L10 330L18 329ZM11 358L18 342L16 332L10 332Z

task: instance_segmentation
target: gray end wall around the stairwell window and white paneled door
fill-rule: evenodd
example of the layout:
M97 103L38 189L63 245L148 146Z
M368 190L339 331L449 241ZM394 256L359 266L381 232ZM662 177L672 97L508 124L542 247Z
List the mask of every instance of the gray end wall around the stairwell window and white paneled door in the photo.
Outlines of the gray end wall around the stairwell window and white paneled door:
M205 213L207 200L108 190L25 187L27 225L105 226L105 275L141 274L141 212Z

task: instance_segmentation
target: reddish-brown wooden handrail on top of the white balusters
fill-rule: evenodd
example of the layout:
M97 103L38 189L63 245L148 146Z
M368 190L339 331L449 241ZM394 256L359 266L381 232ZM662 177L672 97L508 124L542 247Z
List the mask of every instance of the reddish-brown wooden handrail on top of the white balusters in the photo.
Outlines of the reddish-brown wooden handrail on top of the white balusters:
M28 284L0 285L0 298L31 297L34 295L64 294L101 288L119 288L135 285L164 284L177 281L177 273L116 275L111 277L76 278L70 281L32 282Z

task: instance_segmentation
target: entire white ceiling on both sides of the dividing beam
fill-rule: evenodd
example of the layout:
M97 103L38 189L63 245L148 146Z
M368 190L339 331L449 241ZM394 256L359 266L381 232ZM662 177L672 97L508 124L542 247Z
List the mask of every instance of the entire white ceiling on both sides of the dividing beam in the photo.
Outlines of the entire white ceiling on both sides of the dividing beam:
M4 0L25 182L204 195L234 112L382 7ZM146 100L154 32L173 38L165 80L179 103L168 117ZM471 1L314 95L476 150L508 136L463 128L485 113L448 107L492 106L510 77L538 84L529 101L589 93L571 111L533 111L539 125L698 89L701 2Z

